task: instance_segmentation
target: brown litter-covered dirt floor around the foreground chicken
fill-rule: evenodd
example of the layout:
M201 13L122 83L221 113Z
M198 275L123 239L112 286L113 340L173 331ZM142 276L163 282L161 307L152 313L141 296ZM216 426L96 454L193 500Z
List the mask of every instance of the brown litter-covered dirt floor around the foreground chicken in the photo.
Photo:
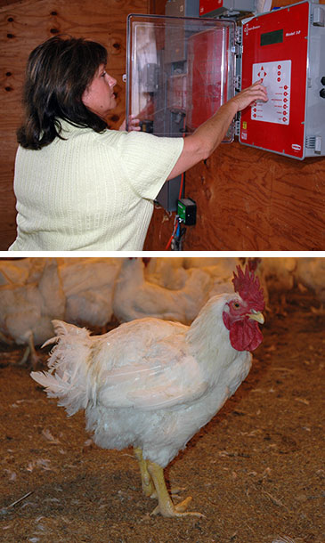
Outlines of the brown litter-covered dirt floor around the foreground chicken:
M0 540L324 543L325 319L310 294L275 302L247 380L166 470L205 518L150 515L132 450L97 448L2 345Z

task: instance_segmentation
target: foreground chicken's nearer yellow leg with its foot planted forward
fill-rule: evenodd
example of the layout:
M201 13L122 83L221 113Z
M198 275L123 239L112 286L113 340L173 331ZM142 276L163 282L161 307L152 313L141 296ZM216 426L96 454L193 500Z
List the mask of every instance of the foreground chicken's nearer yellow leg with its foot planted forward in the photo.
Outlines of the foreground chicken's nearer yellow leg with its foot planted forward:
M152 481L155 485L158 498L158 506L152 511L151 515L160 515L163 516L184 516L184 515L193 515L193 516L204 516L201 513L195 512L186 512L191 496L184 499L180 504L174 505L172 499L170 498L165 482L164 470L158 464L154 462L147 462L148 472L151 475Z

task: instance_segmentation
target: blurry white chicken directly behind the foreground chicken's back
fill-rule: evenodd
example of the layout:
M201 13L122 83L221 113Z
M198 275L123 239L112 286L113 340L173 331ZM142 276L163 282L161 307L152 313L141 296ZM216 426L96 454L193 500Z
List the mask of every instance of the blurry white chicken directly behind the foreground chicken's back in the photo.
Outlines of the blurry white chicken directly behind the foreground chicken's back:
M207 273L193 270L183 288L170 290L144 279L140 258L126 258L115 286L113 312L120 322L150 316L188 324L207 301L209 281Z

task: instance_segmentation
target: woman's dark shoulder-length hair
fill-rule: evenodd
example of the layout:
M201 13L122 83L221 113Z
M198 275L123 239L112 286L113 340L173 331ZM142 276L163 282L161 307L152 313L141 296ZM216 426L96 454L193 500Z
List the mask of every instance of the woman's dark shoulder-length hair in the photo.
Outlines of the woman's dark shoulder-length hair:
M106 62L105 47L84 38L54 36L38 45L28 57L25 120L17 131L20 145L37 150L60 138L60 119L95 132L107 128L81 100L96 70Z

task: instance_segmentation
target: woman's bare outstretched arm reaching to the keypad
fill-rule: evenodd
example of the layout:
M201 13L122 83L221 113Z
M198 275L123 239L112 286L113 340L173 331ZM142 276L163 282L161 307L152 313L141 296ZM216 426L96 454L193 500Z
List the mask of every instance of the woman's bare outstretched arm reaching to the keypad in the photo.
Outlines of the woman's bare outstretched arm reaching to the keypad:
M266 89L260 81L256 81L227 101L213 117L208 118L193 134L186 136L182 154L168 175L168 179L183 174L191 166L198 164L200 160L208 158L223 141L224 134L226 134L236 113L247 108L256 100L267 101Z

